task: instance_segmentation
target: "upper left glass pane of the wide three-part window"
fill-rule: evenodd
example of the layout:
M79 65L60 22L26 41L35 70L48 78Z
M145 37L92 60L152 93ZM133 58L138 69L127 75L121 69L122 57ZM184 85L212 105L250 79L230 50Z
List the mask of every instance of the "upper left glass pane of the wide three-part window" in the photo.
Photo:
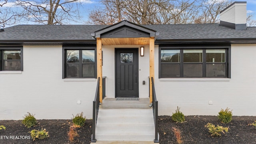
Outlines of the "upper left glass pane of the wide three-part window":
M161 62L180 62L180 50L161 50Z

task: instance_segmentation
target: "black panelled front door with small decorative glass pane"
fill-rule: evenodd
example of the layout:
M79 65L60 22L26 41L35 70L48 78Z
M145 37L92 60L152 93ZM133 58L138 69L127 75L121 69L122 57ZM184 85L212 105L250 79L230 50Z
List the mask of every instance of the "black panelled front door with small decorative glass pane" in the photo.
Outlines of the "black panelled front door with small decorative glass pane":
M138 49L116 48L116 97L138 96Z

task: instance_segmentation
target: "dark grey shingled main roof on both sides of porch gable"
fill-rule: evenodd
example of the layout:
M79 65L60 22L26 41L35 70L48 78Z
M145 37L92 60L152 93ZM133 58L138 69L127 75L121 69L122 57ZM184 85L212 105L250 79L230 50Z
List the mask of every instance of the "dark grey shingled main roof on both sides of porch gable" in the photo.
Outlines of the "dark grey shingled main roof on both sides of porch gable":
M3 42L96 42L91 33L108 25L17 25L0 32ZM256 43L256 27L234 30L220 24L143 25L160 32L156 42L243 41Z

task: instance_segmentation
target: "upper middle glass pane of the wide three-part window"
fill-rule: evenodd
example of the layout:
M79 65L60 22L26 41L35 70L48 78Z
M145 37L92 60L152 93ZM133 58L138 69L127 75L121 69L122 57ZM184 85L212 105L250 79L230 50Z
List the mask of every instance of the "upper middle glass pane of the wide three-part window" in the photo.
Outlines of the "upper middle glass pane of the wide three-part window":
M184 62L202 62L203 50L183 50Z

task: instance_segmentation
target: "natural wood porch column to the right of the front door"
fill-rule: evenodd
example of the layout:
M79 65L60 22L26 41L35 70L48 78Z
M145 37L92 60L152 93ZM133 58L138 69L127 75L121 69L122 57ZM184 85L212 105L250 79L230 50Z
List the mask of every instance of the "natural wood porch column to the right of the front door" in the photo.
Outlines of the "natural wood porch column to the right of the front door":
M154 79L154 54L155 54L155 39L154 37L150 37L149 40L149 99L150 103L152 102L152 80L151 77Z

